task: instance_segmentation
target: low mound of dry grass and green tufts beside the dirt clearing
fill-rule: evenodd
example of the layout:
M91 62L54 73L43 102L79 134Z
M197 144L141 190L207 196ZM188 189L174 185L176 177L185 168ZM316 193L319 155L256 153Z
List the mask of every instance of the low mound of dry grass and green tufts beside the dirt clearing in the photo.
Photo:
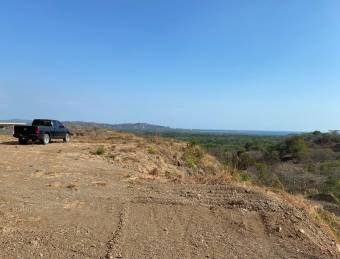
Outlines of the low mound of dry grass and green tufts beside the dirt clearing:
M182 181L187 176L224 175L227 172L197 145L176 140L104 129L77 129L76 141L97 143L100 155L115 166L137 173L136 177ZM96 150L92 150L96 155Z

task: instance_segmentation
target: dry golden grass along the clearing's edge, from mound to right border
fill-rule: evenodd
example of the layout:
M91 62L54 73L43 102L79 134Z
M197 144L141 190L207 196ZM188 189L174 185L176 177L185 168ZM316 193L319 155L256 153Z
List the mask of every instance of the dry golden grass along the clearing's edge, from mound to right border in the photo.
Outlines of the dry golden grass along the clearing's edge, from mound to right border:
M302 195L291 195L282 190L252 185L234 169L223 168L214 157L203 152L198 146L161 137L144 139L133 134L105 129L78 129L74 139L78 142L105 145L105 151L99 151L101 156L116 166L134 172L130 175L132 178L150 179L151 177L191 184L236 183L277 197L306 211L319 225L339 240L338 217L305 200Z

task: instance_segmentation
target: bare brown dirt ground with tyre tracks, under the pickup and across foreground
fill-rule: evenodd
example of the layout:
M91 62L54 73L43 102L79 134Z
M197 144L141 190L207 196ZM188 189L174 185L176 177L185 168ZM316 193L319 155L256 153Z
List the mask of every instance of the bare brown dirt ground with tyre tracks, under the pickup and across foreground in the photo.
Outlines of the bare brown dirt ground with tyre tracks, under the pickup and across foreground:
M0 137L1 258L340 258L278 198L138 179L92 155L97 145Z

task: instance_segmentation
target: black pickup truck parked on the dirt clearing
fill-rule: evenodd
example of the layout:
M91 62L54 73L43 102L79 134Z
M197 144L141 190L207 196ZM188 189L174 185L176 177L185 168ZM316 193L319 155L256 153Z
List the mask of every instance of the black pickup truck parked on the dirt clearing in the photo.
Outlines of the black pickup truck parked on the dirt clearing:
M20 144L27 144L29 140L40 141L42 144L50 143L51 139L63 139L69 142L71 131L57 120L34 120L32 126L14 126L15 138L19 139Z

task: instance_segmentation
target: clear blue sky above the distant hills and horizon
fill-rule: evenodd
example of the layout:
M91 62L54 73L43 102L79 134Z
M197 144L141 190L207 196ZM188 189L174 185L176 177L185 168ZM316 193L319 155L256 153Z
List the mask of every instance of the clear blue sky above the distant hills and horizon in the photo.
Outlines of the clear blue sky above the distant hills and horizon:
M340 129L340 1L5 0L0 119Z

